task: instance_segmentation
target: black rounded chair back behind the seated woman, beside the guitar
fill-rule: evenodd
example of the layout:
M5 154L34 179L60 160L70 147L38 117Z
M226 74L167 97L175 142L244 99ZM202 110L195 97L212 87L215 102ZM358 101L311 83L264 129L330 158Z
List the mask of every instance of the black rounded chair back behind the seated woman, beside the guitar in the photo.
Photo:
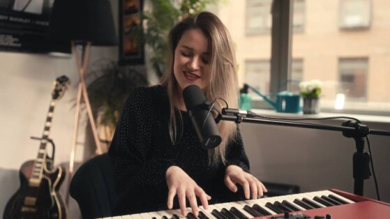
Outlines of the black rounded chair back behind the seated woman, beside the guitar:
M113 167L107 153L84 163L70 181L70 196L80 207L82 218L113 216L118 195L115 192Z

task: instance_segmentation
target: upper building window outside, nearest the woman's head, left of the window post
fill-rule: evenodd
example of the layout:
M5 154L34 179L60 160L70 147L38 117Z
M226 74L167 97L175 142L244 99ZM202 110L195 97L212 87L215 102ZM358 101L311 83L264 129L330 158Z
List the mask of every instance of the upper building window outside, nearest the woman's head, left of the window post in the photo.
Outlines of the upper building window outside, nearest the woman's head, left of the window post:
M271 3L271 0L246 0L247 35L271 31Z

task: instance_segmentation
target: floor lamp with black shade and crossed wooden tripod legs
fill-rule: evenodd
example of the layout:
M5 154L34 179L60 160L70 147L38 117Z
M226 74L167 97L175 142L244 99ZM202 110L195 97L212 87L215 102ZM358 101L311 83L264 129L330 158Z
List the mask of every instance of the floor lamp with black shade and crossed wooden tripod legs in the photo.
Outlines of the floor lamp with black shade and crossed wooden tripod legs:
M110 2L107 0L56 0L50 16L50 27L48 32L52 43L70 44L75 57L77 71L80 77L78 85L75 125L73 129L73 140L70 149L69 176L73 175L73 165L75 162L75 149L77 133L80 120L81 104L87 110L89 123L91 125L93 139L96 144L96 152L103 153L93 118L91 105L89 103L85 77L89 62L91 45L117 45L118 39L114 29L112 10ZM82 47L81 59L77 52L77 45ZM69 202L69 192L66 196L66 203Z

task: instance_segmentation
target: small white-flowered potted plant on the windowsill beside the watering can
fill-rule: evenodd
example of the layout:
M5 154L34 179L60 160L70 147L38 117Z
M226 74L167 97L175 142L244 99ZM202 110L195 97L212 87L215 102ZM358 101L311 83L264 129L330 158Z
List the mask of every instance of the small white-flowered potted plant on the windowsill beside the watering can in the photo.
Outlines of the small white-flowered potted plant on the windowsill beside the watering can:
M303 98L303 114L317 114L320 112L320 94L322 82L310 80L299 83L299 93Z

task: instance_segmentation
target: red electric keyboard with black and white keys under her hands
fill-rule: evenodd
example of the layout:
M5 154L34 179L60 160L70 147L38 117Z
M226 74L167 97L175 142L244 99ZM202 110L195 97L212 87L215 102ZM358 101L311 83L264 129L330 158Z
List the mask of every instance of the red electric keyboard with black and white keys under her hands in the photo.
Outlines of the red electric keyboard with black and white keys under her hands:
M199 219L248 218L390 218L390 204L360 197L340 190L321 190L295 195L248 199L199 207ZM366 210L363 210L366 209ZM180 209L135 213L112 219L197 219L188 208L186 217ZM371 212L372 211L372 212ZM111 217L110 217L111 218Z

